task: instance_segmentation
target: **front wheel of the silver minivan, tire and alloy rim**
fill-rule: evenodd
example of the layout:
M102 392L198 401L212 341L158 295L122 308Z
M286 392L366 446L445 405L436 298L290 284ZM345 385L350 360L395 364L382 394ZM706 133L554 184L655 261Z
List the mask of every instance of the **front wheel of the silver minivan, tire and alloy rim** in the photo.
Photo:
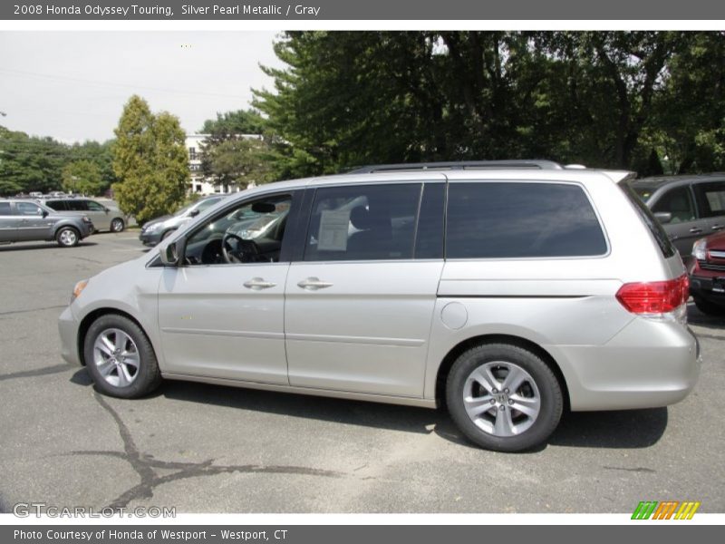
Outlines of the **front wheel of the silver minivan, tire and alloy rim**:
M96 341L103 342L102 336L109 340L111 345L118 346L119 353L114 350L115 355L110 355L97 348ZM104 346L111 351L109 344ZM125 357L124 353L128 357ZM124 399L137 398L151 393L161 383L161 373L153 346L140 326L128 317L107 314L96 319L83 339L83 356L96 387L110 396ZM135 366L131 364L131 359L136 361ZM126 372L123 372L123 368ZM129 383L124 383L127 381Z

